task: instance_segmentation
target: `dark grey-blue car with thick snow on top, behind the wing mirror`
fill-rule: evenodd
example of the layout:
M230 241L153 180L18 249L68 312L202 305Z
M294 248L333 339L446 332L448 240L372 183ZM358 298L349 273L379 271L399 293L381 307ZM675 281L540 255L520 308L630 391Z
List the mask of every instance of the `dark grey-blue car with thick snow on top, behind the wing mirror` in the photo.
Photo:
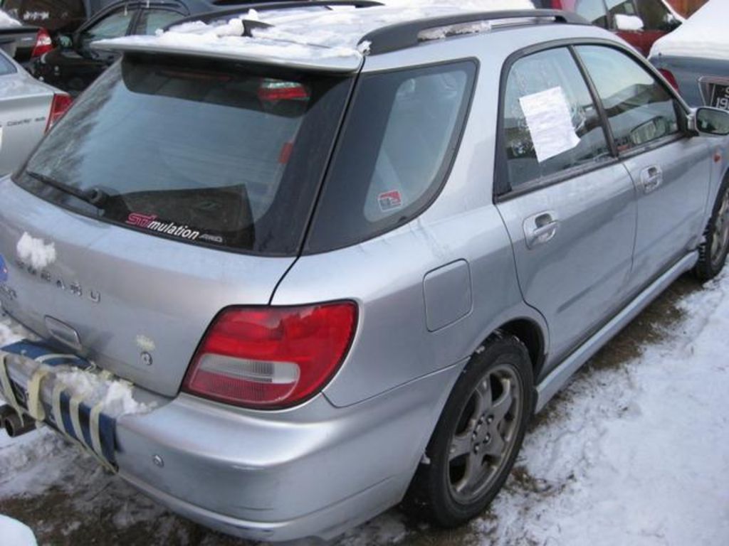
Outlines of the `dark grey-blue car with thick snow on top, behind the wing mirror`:
M692 106L729 110L729 3L711 0L656 41L650 62Z

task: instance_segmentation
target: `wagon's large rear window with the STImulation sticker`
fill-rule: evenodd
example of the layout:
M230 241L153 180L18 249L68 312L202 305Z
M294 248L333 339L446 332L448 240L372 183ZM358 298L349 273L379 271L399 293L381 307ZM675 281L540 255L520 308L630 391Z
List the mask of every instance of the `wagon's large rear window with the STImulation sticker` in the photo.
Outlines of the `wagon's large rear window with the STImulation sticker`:
M291 256L350 85L342 77L126 56L79 98L16 181L129 229ZM79 191L104 199L92 205L73 195Z

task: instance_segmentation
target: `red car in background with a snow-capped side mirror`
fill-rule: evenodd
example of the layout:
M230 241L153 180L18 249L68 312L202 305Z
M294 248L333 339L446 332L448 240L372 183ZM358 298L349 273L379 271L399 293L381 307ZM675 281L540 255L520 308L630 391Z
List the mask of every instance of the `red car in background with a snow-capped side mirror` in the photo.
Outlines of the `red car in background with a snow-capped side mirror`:
M576 12L648 55L653 42L684 22L665 0L532 0L534 7Z

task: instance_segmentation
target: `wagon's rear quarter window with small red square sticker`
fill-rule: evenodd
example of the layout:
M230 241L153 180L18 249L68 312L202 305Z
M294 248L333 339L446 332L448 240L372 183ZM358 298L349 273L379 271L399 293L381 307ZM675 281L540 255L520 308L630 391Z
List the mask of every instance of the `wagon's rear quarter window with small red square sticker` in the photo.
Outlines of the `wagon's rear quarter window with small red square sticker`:
M474 74L467 61L362 76L308 252L367 240L424 210L451 166Z

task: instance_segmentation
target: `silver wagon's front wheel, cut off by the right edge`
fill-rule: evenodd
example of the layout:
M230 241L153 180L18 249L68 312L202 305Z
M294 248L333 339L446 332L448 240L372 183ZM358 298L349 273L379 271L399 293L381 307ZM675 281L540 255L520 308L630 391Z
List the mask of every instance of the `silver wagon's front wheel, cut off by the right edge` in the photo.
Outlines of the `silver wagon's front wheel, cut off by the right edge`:
M703 242L698 247L698 262L693 275L704 282L721 272L729 253L729 177L725 178L717 194L712 218L703 232Z

